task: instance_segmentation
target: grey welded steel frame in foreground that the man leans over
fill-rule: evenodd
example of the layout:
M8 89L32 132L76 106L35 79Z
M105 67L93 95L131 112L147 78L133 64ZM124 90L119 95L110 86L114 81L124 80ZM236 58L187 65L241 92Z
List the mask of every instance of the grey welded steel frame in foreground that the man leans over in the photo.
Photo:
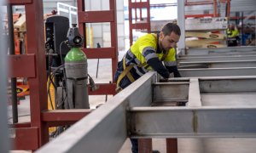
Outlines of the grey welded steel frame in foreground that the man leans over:
M255 81L256 77L199 77L163 83L156 81L154 72L149 72L37 152L118 152L126 137L255 138L256 106L244 105L255 99ZM179 92L182 90L185 92ZM166 100L188 102L179 107L148 107L158 99L157 94L164 94ZM207 100L211 94L219 95L221 103L226 100L224 94L244 96L236 96L231 101L236 105L227 107L212 105Z

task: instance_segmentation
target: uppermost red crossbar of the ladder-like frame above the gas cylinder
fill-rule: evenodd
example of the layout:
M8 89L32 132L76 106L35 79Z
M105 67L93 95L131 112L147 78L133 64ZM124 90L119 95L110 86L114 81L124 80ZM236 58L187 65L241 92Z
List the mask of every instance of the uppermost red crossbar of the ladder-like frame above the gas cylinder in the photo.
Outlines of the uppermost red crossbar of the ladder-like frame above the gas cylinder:
M113 22L114 11L79 11L79 23Z

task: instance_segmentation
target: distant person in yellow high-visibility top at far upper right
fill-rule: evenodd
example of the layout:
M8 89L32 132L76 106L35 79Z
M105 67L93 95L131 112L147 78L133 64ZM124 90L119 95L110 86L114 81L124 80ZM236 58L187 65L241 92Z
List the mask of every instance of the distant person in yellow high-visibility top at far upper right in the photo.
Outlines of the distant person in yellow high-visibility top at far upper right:
M239 42L239 31L234 24L230 24L228 30L228 46L237 46Z

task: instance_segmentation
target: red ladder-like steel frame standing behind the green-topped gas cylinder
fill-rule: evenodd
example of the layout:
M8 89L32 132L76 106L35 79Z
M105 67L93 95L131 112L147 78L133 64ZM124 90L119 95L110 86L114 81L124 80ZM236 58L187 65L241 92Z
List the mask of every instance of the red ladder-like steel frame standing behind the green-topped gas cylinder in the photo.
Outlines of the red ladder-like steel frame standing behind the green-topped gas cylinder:
M79 16L79 31L83 36L86 36L85 24L110 22L111 47L110 48L86 48L84 43L84 54L88 59L112 59L112 77L117 69L118 63L118 43L117 43L117 20L116 20L116 0L109 0L109 10L102 11L85 11L84 0L78 0L78 16ZM84 39L84 41L86 41ZM116 94L116 84L99 83L96 84L99 88L91 92L90 95L98 94Z

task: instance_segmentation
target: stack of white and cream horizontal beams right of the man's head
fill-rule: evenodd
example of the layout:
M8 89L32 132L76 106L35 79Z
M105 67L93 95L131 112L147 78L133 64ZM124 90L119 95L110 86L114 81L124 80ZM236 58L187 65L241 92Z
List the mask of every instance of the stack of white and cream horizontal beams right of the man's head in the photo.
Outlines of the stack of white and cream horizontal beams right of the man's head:
M228 26L227 19L196 18L185 20L185 37L187 48L224 48L224 33ZM214 31L214 33L212 32ZM217 31L217 32L216 32Z

